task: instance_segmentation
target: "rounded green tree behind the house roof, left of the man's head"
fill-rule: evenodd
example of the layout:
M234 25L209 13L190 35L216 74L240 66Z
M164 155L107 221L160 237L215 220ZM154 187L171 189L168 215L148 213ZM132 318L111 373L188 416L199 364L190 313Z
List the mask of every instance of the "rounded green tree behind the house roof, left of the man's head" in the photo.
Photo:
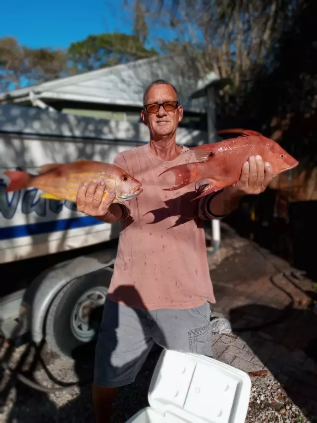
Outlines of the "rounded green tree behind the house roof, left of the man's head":
M68 59L78 72L100 69L119 63L155 56L154 49L148 50L142 43L142 31L137 35L120 33L90 35L83 41L72 43ZM144 31L144 29L143 29Z

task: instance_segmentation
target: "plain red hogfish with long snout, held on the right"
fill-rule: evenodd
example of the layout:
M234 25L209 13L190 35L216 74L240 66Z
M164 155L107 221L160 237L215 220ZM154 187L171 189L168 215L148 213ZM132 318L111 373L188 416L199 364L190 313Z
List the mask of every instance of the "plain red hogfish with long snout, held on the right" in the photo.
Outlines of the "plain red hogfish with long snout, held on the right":
M195 199L203 197L238 182L243 163L250 156L260 155L264 162L270 163L274 176L298 165L298 161L279 144L259 132L248 129L218 131L225 132L242 135L190 149L194 152L196 162L173 166L162 172L160 175L172 172L175 177L174 185L164 190L173 191L203 178L212 179L202 194Z

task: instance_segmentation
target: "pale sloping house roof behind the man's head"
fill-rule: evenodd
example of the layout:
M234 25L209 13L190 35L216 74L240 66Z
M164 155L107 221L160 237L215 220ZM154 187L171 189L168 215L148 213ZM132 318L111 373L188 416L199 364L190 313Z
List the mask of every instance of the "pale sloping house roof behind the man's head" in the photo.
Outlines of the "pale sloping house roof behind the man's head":
M0 94L0 102L23 103L33 92L37 98L122 106L143 106L145 88L156 79L167 79L179 91L185 111L205 112L205 98L193 99L198 79L182 75L184 58L156 56L106 67L75 76L28 86ZM219 78L214 74L214 81Z

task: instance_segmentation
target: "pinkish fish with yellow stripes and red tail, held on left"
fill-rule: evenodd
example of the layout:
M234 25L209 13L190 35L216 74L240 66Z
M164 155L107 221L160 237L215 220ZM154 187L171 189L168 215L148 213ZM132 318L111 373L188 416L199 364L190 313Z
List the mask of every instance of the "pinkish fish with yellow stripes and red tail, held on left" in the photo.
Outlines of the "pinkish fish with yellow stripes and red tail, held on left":
M76 195L82 182L104 180L106 189L115 189L118 201L131 200L142 191L141 182L127 174L116 165L91 160L82 160L65 164L48 164L42 166L39 175L31 175L21 171L7 171L4 175L11 182L6 192L34 187L43 191L41 197L54 200L76 201ZM108 193L105 191L103 200Z

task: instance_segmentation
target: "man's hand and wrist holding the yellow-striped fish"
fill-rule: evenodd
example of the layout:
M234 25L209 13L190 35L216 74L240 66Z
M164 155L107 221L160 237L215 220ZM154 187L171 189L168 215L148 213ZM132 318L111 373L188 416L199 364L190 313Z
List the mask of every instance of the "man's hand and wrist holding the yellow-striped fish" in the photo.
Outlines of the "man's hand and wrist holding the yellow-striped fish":
M102 201L106 190L105 181L83 182L77 191L77 210L103 222L114 223L122 216L122 209L113 204L115 190L107 190L108 196Z

